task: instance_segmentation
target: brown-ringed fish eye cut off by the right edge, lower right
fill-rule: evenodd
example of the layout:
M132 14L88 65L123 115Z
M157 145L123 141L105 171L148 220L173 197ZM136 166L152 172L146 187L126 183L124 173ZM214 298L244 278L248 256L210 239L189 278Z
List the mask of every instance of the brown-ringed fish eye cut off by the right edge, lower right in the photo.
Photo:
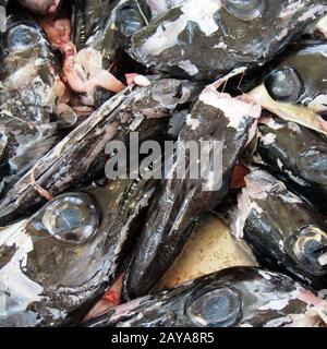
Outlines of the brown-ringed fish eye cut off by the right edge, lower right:
M287 242L298 263L313 275L327 273L327 232L316 226L302 227Z

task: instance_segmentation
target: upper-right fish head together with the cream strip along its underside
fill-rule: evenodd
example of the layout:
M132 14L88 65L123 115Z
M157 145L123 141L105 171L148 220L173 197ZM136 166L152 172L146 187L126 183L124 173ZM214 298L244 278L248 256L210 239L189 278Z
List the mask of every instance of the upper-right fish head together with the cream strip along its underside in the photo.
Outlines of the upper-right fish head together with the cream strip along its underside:
M276 59L249 95L278 117L327 134L327 44L300 41Z

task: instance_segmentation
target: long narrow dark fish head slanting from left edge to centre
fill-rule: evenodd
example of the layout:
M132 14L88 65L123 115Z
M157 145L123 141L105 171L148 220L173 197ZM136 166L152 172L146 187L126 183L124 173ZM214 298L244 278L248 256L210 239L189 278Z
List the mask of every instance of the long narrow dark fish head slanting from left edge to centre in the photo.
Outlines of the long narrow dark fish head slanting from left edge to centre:
M140 131L143 140L162 135L175 109L195 98L196 86L187 81L164 79L154 81L148 87L128 87L112 97L7 193L0 202L0 226L33 213L36 206L45 203L33 185L32 177L52 196L59 195L94 171L94 164L105 157L109 141L124 141L130 131ZM101 171L104 173L104 167Z

